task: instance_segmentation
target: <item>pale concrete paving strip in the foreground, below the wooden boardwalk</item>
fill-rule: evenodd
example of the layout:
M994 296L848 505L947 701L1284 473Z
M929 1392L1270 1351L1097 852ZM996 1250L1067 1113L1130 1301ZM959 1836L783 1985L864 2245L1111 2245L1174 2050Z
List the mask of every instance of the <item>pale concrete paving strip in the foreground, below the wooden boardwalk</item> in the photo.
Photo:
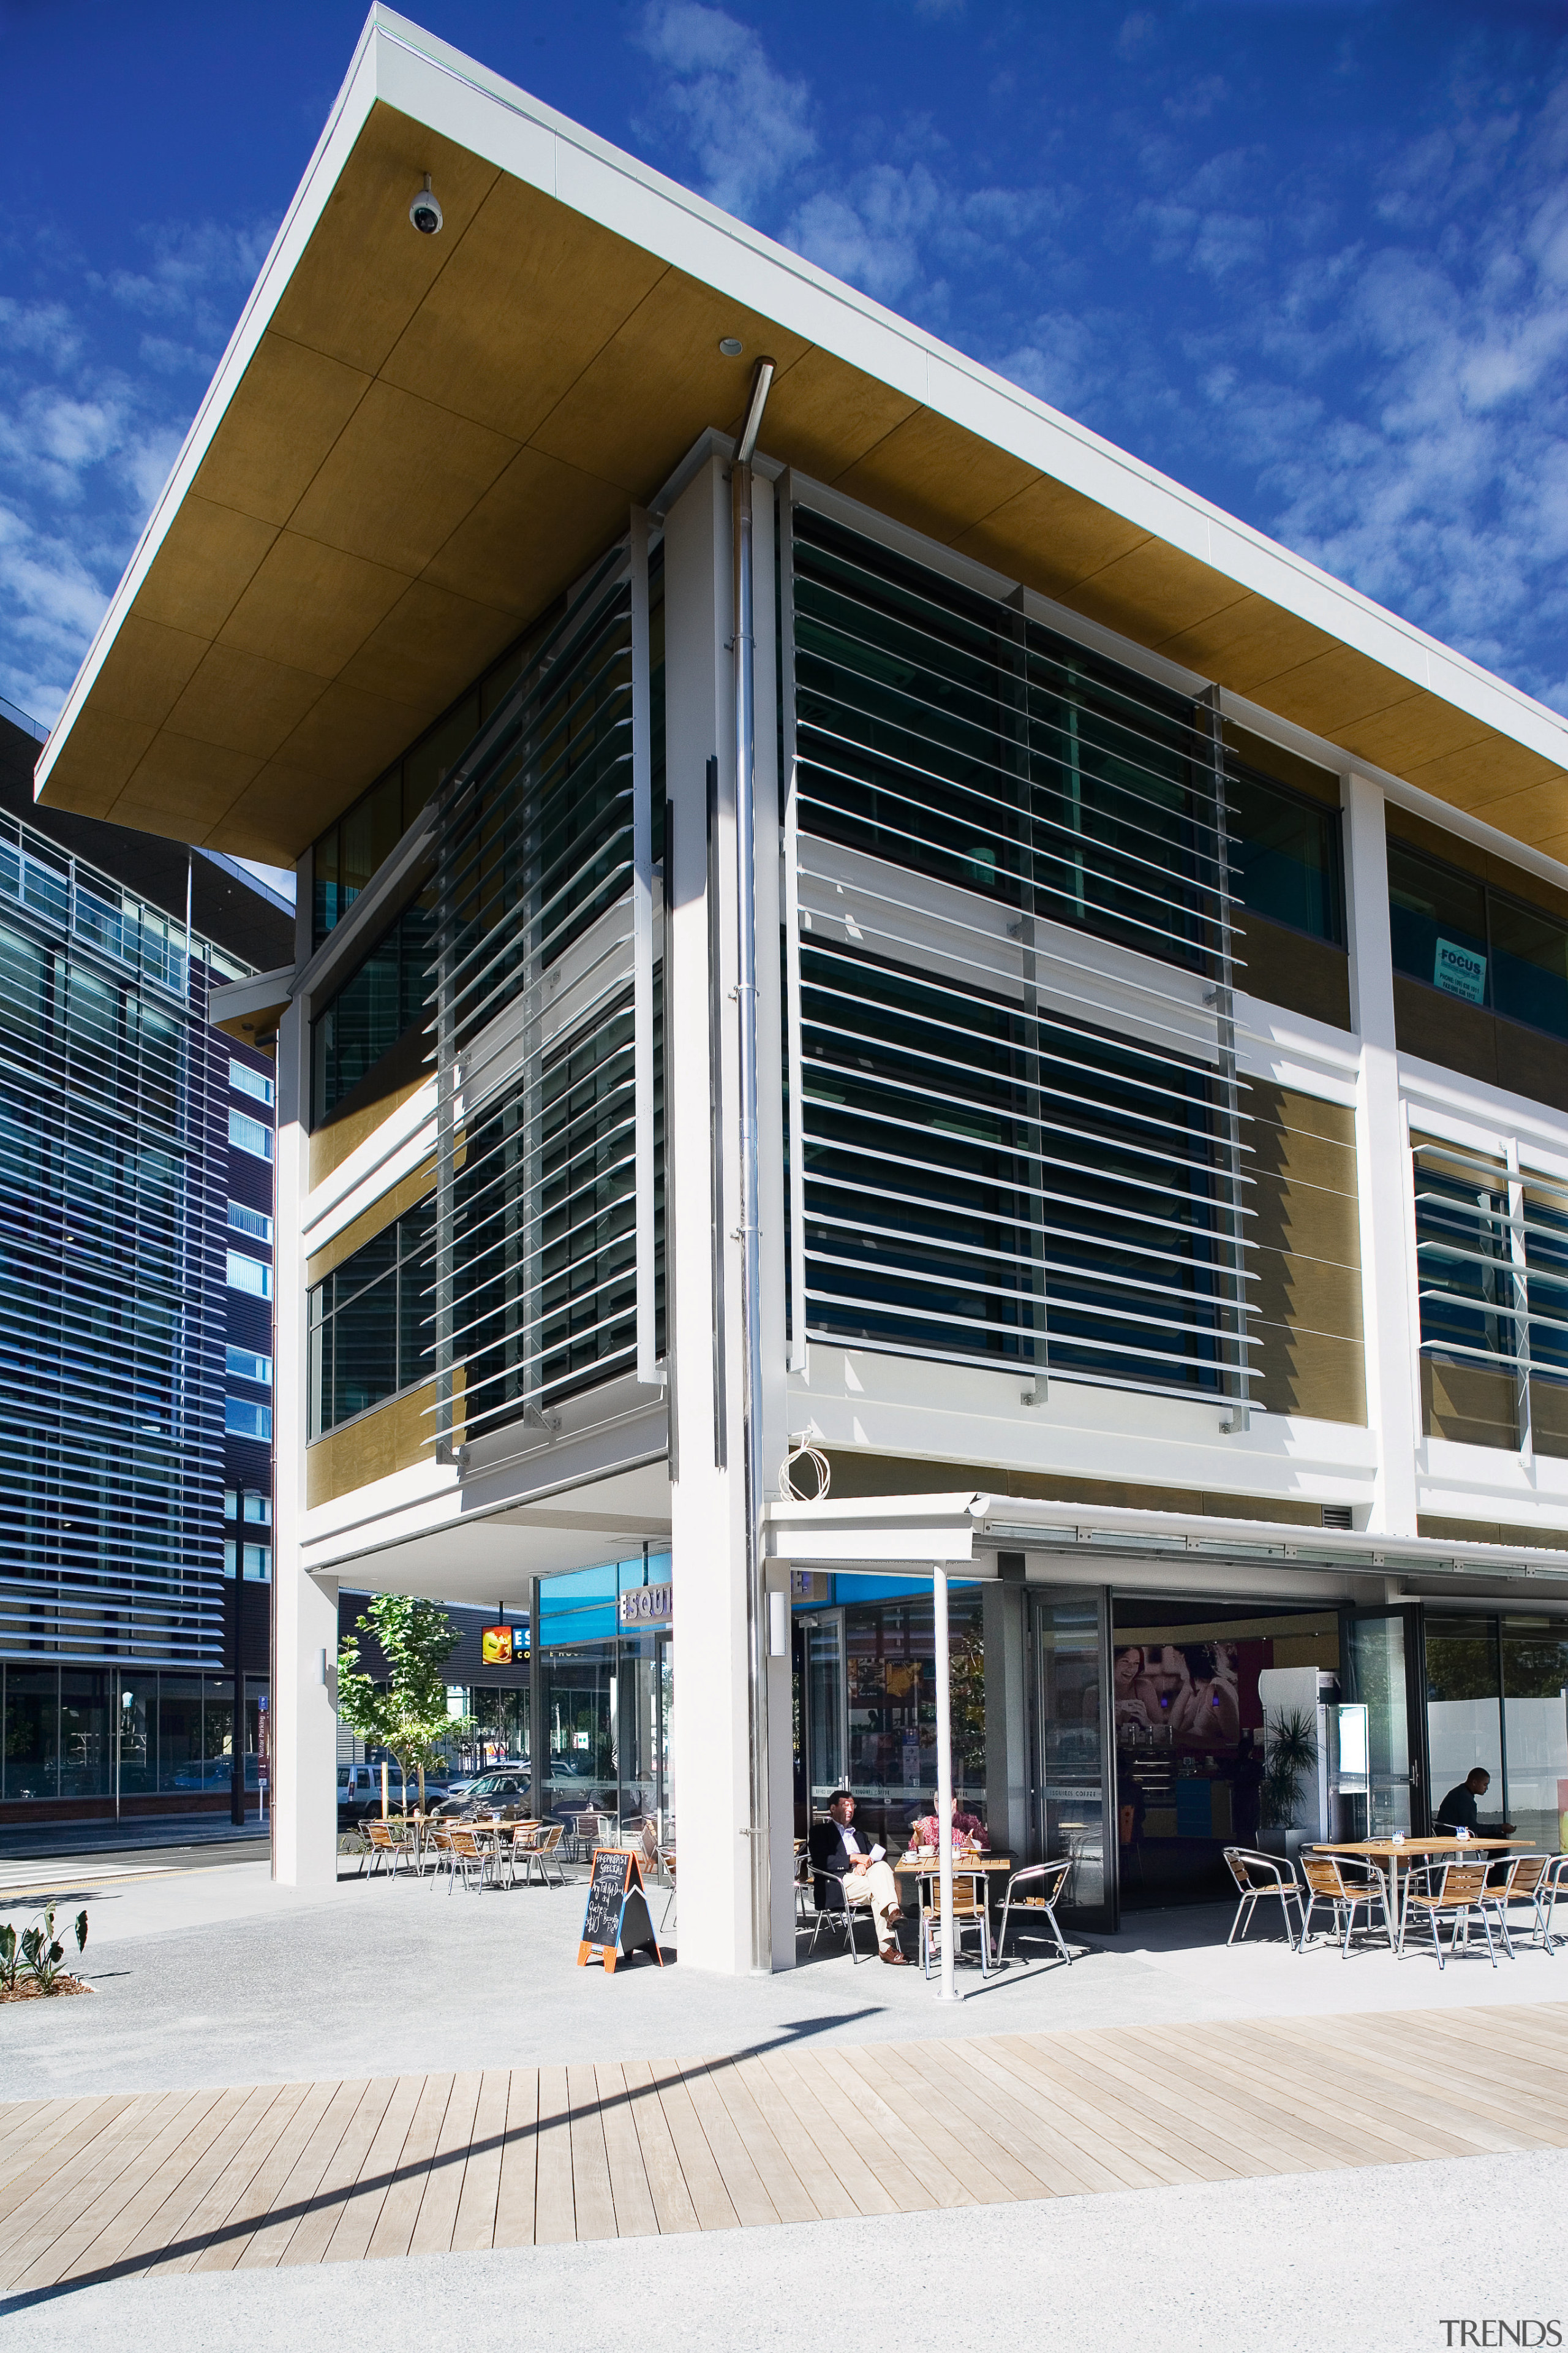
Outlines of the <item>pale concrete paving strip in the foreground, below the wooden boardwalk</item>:
M73 2353L795 2353L884 2339L992 2353L1128 2344L1443 2353L1568 2341L1568 2153L1288 2174L1046 2205L235 2271L0 2301L16 2341ZM1460 2339L1446 2322L1490 2320ZM1497 2320L1542 2325L1500 2337Z

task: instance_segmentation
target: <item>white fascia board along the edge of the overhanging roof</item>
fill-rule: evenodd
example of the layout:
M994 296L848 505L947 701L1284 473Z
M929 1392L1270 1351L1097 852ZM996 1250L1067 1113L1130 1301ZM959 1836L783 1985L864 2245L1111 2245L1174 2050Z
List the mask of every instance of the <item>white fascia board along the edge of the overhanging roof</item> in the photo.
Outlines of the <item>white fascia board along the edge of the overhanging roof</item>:
M1385 612L1371 598L1222 513L1197 492L1046 407L1044 400L980 367L978 360L964 358L964 353L884 311L816 264L731 219L609 141L595 139L592 132L435 40L409 19L374 7L252 299L66 699L40 760L35 791L49 776L54 746L63 741L96 678L376 99L425 122L515 179L559 198L644 252L778 320L792 334L860 367L910 400L950 416L1025 466L1079 489L1154 539L1234 579L1239 591L1253 591L1286 612L1295 612L1326 635L1408 678L1410 685L1441 694L1486 727L1568 767L1568 720L1556 711L1547 711L1544 704L1483 671L1481 664Z

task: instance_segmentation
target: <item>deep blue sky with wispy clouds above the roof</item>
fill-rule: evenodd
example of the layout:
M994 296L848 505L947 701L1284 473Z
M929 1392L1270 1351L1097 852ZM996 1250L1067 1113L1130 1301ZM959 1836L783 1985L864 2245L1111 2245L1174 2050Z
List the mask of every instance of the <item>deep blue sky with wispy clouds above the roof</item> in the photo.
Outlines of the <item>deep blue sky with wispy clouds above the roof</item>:
M409 14L1568 711L1568 0ZM0 0L0 694L42 720L360 24Z

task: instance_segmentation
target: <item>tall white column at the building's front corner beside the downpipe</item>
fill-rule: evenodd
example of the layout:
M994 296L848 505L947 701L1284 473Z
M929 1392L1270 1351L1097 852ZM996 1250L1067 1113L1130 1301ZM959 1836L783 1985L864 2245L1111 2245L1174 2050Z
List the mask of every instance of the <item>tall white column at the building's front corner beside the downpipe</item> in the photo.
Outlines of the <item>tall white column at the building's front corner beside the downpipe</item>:
M752 1960L741 1461L741 1205L736 1118L736 849L729 713L731 518L708 464L665 518L665 776L672 906L665 969L665 1125L672 1271L670 1551L675 1584L675 1793L682 1967ZM719 760L708 854L708 762ZM710 871L717 920L710 927ZM710 936L719 972L710 986ZM717 1024L717 1052L715 1052ZM717 1080L717 1087L715 1087ZM715 1101L717 1094L717 1101ZM719 1179L715 1193L715 1148Z

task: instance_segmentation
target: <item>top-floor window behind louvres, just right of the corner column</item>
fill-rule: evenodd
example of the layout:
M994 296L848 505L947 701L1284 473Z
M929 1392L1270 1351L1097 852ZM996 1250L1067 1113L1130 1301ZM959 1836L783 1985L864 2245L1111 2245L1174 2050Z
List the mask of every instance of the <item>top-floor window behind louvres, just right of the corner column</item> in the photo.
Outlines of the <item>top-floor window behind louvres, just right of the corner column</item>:
M1145 955L1218 948L1187 696L797 506L795 701L806 833Z

